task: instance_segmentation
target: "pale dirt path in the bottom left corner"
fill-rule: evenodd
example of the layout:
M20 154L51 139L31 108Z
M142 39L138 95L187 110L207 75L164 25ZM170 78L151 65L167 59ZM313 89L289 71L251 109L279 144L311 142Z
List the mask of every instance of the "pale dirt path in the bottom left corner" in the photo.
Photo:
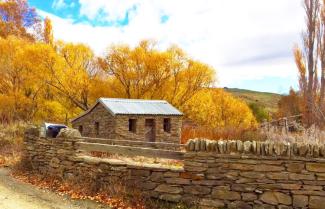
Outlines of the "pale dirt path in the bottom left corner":
M92 201L71 200L51 191L18 182L0 168L1 209L110 209Z

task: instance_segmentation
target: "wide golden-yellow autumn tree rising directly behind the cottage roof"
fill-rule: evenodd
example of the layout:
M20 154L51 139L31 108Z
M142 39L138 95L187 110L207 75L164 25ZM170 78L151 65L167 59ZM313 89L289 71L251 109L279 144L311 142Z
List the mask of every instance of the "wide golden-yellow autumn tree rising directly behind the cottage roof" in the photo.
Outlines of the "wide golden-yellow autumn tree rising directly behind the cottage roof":
M192 60L176 46L160 51L147 40L135 48L112 46L99 63L116 96L166 99L179 108L214 82L208 65Z

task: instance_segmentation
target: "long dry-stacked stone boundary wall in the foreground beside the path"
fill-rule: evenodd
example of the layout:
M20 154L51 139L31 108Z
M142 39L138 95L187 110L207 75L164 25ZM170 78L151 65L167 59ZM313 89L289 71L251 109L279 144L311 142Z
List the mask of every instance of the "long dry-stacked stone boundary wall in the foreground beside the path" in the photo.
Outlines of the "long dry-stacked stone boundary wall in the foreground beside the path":
M26 132L24 158L47 175L101 187L122 180L151 197L204 209L325 208L324 146L191 140L184 167L171 168L82 156L78 133L35 135Z

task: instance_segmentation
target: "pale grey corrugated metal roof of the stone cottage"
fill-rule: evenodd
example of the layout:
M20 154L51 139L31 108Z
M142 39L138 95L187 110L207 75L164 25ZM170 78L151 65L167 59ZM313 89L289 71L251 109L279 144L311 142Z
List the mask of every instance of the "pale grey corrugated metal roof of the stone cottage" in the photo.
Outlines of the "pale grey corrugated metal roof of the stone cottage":
M98 101L114 115L183 115L165 100L100 98Z

